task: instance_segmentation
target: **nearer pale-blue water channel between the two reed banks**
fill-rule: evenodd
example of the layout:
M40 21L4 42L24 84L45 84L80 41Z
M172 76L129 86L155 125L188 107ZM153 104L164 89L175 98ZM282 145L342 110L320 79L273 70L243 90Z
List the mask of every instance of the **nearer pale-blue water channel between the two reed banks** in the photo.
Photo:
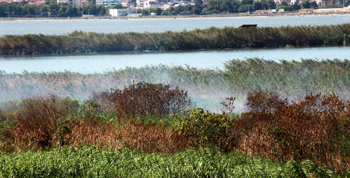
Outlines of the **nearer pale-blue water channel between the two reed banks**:
M0 56L0 70L7 73L71 71L94 73L125 67L174 65L224 69L231 59L262 58L300 61L302 59L350 59L350 46L319 46L268 49L225 49L157 52L120 52L54 55Z

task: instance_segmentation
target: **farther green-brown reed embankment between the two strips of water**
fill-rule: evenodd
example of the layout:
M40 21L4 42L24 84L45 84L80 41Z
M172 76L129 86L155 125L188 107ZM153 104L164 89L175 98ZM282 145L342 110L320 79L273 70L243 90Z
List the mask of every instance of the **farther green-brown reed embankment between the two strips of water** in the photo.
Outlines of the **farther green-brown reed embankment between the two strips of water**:
M5 35L0 54L56 54L144 50L224 49L349 44L350 24L296 27L233 27L162 33Z

